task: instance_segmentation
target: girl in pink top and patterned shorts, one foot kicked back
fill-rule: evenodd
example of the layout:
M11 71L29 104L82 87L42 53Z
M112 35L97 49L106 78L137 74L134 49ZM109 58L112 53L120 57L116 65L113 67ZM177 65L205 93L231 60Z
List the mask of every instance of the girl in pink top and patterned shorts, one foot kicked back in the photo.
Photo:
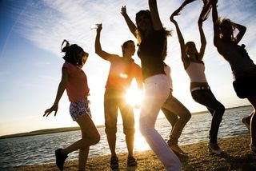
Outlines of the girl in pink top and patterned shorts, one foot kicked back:
M62 45L64 42L66 42L66 46L62 49L62 52L65 53L62 80L58 85L54 105L50 109L46 109L43 116L48 117L53 111L55 112L54 116L56 116L58 101L66 89L70 99L70 115L74 121L78 122L82 131L82 139L65 149L57 149L55 151L56 165L58 169L63 170L64 162L68 157L67 154L79 149L79 170L85 170L90 145L95 145L100 140L98 130L91 120L89 101L87 100L89 87L86 74L82 70L82 66L86 63L89 54L76 44L70 46L66 40L62 42Z

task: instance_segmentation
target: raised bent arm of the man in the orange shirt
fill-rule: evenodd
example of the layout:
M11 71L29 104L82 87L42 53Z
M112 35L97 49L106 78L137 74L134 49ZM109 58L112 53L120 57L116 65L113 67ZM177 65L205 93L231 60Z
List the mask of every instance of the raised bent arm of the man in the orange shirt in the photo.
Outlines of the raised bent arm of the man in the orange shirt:
M101 31L102 31L102 24L98 25L97 28L97 34L95 38L95 53L98 54L101 58L110 61L110 58L113 56L113 54L108 54L104 50L102 50L100 37L101 37Z

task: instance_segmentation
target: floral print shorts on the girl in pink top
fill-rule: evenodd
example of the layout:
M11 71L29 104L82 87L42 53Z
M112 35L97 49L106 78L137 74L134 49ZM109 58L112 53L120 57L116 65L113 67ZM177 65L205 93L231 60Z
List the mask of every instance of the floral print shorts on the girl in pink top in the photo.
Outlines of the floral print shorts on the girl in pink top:
M89 114L91 117L90 101L87 100L87 97L80 101L75 101L70 103L70 115L73 121L76 121L78 117L85 114Z

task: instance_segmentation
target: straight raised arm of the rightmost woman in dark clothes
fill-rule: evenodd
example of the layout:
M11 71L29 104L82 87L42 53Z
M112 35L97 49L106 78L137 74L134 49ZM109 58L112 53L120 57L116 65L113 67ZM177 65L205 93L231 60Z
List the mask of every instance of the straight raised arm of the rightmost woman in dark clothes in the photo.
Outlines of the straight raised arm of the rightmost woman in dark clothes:
M218 29L218 10L217 10L217 2L218 0L211 0L212 2L212 18L214 24L214 46L218 45L218 41L220 40L219 34L220 30Z

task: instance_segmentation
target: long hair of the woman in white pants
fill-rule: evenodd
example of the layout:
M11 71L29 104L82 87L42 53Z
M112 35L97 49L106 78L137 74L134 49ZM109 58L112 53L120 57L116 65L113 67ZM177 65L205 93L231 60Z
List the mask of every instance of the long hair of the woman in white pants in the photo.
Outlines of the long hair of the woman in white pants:
M153 22L152 22L150 10L140 10L140 11L138 11L138 13L136 14L136 18L135 18L136 25L137 25L136 37L138 39L138 45L142 42L142 39L145 38L145 32L138 27L138 17L142 16L142 15L144 15L146 18L150 19L150 22L151 22L151 25L152 25L152 30L153 30ZM163 27L163 29L165 30L166 37L171 35L170 30L166 30L165 27Z

